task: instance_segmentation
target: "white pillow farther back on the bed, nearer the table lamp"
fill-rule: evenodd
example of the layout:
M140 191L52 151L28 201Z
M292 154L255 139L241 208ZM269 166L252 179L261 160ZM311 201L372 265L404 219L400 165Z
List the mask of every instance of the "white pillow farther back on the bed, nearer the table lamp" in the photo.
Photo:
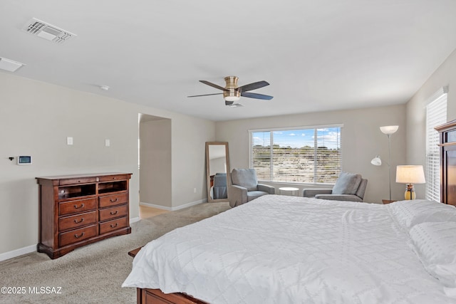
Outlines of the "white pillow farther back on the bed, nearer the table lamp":
M395 201L395 203L386 206L390 209L391 214L398 219L399 223L408 229L416 224L426 222L456 222L455 206L442 204L437 201L414 199L412 201Z

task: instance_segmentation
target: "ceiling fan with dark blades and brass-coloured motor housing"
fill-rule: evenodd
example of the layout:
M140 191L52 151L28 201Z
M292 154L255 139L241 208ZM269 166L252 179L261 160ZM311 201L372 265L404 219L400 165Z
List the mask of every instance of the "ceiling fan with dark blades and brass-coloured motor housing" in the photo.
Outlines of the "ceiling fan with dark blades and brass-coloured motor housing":
M271 100L273 97L269 95L263 95L263 94L258 94L258 93L250 93L248 91L250 90L255 90L259 88L263 88L266 85L269 85L268 82L261 80L257 81L256 83L249 83L248 85L242 85L240 87L237 86L237 78L236 76L227 76L224 78L225 82L227 85L225 87L221 87L220 85L216 85L214 83L209 83L207 80L199 80L200 83L204 83L205 85L209 85L212 88L217 88L219 90L222 90L223 93L214 93L214 94L204 94L204 95L192 95L192 96L187 96L187 97L199 97L199 96L209 96L209 95L222 95L225 100L225 105L229 106L242 106L240 103L234 103L243 97L248 97L248 98L256 98L256 99L261 99L261 100Z

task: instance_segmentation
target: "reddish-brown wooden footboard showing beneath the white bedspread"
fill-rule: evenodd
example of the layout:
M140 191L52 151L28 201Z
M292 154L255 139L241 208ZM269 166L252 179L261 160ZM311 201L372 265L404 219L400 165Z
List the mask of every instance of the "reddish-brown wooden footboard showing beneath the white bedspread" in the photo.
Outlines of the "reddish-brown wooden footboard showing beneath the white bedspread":
M133 258L141 250L136 248L128 252ZM136 288L136 303L138 304L207 304L202 300L192 298L185 293L163 293L160 289Z

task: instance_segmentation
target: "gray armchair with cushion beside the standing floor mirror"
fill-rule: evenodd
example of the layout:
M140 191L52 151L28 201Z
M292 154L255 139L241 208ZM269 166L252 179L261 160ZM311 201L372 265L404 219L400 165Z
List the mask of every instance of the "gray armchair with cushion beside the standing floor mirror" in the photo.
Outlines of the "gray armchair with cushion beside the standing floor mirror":
M232 184L228 188L228 200L229 206L232 207L275 192L275 188L272 186L258 184L255 169L233 169L231 179Z

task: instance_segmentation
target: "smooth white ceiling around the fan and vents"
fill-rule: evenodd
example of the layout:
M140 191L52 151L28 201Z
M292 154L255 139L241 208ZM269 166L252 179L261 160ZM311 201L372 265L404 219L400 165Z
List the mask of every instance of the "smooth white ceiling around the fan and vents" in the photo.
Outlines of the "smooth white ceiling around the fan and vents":
M405 103L456 48L455 0L0 0L0 16L15 75L210 120ZM33 17L77 37L22 31ZM228 75L274 99L187 98Z

